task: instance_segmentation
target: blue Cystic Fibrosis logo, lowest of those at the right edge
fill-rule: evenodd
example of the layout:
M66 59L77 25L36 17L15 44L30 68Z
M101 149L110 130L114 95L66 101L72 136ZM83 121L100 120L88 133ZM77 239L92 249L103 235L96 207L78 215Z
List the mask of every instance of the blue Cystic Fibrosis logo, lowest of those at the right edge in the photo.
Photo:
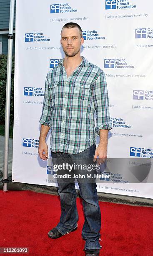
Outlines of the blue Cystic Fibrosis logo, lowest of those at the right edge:
M130 156L153 158L153 149L130 147Z

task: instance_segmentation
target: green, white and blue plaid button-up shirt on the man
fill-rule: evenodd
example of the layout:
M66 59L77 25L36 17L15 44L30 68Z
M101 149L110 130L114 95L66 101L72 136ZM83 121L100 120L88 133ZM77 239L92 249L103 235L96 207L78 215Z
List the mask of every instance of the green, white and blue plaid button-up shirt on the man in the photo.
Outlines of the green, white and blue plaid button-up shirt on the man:
M51 128L51 151L78 154L95 143L100 129L112 128L107 85L104 72L84 57L67 78L63 60L47 74L40 123Z

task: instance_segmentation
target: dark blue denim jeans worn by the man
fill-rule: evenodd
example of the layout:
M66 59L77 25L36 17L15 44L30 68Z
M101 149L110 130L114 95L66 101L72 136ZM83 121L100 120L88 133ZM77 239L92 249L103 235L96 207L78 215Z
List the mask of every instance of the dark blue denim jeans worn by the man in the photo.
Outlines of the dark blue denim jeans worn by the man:
M79 154L68 154L63 152L54 153L51 151L52 161L54 164L96 164L93 162L93 157L95 154L96 145L93 144L89 148L85 149ZM60 195L60 204L61 204L61 216L60 222L56 228L65 235L70 232L73 228L77 227L78 222L78 211L76 207L76 190L75 190L75 178L73 175L77 174L94 174L95 171L88 172L88 170L73 169L70 171L57 174L71 174L71 179L57 178L58 182L58 194ZM86 177L86 176L85 176ZM92 176L93 177L93 176ZM85 215L85 222L82 230L82 238L85 240L85 250L87 249L100 249L99 239L100 239L100 227L101 227L101 215L100 207L98 203L97 195L97 185L95 178L92 179L83 179L81 177L77 178L77 182L80 189L80 195L83 199L83 210Z

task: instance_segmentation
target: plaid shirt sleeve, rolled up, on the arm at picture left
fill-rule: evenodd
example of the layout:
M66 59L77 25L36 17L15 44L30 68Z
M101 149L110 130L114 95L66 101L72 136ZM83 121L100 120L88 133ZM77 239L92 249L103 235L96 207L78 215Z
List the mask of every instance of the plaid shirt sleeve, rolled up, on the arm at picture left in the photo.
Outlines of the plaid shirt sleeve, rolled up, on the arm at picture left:
M47 74L46 81L45 81L43 110L42 110L42 115L39 120L39 123L51 127L51 114L52 114L52 105L51 105L51 99L50 99L50 88L49 88L49 81L48 81L48 74Z

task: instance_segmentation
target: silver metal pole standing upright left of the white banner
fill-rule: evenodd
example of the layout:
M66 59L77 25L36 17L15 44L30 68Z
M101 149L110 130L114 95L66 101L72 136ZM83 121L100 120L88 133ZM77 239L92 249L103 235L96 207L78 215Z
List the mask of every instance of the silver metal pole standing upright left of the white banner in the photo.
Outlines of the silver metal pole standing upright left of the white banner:
M9 127L10 127L10 90L11 90L11 73L12 73L14 5L15 5L15 0L10 0L10 23L9 23L9 35L8 35L8 65L7 65L7 82L6 82L3 179L8 178L8 147L9 147ZM3 191L7 191L7 190L8 190L8 183L6 182L3 185Z

